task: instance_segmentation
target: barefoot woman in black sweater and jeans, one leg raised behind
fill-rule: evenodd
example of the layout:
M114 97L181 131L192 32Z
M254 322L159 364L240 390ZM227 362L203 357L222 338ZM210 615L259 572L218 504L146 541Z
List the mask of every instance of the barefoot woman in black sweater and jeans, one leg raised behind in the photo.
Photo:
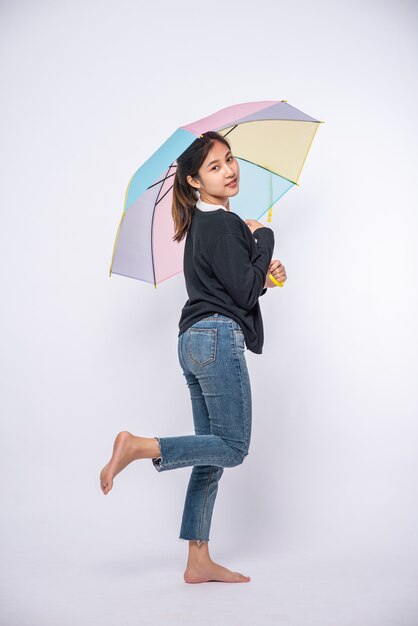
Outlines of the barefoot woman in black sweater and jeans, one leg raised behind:
M179 322L178 357L192 402L194 435L139 437L120 432L100 474L109 493L114 477L137 459L157 471L192 467L180 539L189 542L184 580L248 582L249 576L212 561L208 541L219 479L248 455L251 388L245 346L261 354L263 323L258 298L285 281L271 261L274 233L230 211L239 191L239 165L226 138L201 135L177 159L172 214L174 240L186 235L184 276L189 299Z

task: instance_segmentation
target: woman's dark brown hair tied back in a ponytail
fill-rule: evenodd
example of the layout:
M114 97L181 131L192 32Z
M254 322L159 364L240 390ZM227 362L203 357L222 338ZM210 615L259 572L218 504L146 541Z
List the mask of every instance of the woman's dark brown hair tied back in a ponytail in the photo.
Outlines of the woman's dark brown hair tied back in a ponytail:
M189 185L187 176L199 178L199 169L206 159L214 141L221 141L231 149L229 141L222 135L209 130L200 135L178 158L173 183L173 204L171 213L174 220L173 241L180 241L187 235L196 204L196 189Z

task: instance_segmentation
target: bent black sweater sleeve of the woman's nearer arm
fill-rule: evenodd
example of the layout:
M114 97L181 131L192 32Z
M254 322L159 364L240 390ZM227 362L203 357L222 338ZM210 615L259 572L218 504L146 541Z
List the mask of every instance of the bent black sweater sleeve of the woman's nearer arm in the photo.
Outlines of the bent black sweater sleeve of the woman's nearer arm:
M212 253L212 270L236 304L250 311L266 289L267 270L274 249L270 228L257 229L257 252L251 260L248 241L242 235L228 233L220 237Z

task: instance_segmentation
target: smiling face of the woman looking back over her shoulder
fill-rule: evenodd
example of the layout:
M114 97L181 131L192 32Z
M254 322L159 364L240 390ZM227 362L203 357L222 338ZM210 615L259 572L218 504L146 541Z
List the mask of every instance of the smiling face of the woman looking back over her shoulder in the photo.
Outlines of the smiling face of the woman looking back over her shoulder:
M229 207L229 198L239 192L239 165L228 146L220 141L213 142L199 176L200 180L188 176L187 182L198 189L200 199ZM235 184L228 184L234 180Z

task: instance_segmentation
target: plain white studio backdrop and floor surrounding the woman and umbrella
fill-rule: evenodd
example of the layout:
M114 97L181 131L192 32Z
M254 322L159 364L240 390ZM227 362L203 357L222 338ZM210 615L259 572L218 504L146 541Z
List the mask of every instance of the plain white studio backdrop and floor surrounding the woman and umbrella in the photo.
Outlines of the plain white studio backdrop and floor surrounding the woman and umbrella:
M418 623L416 33L399 0L1 3L1 624ZM110 278L113 243L177 127L282 99L325 124L212 522L252 580L186 585L190 468L99 488L120 430L193 433L184 277Z

